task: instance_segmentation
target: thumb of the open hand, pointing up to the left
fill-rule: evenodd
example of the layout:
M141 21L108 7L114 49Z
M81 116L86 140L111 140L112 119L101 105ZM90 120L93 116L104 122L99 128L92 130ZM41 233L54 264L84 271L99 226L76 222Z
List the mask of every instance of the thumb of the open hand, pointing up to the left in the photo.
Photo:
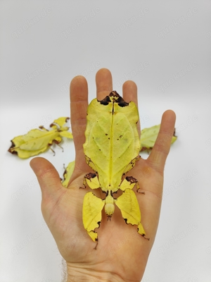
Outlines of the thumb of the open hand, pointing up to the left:
M42 194L42 200L56 200L63 190L56 168L44 158L36 157L30 161L30 166L37 176Z

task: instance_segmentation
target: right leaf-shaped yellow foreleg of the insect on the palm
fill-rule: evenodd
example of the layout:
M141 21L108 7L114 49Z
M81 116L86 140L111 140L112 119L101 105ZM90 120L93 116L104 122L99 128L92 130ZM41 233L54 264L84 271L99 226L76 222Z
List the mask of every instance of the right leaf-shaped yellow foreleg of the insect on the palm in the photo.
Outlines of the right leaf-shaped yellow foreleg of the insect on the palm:
M125 189L115 204L121 210L124 221L128 224L137 225L138 233L144 236L146 233L141 225L141 212L136 194L131 189Z

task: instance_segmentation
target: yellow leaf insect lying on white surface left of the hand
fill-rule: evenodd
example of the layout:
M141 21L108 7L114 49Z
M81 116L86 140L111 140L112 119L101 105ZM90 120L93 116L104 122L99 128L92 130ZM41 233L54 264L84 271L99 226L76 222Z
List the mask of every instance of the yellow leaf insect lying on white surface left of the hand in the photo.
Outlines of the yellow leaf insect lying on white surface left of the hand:
M18 157L27 159L51 149L51 145L57 145L63 140L63 137L72 138L72 133L68 132L68 127L63 126L68 121L67 117L58 118L51 123L51 130L44 126L39 129L32 129L25 135L19 135L11 140L12 145L8 149L11 154L18 154ZM53 149L51 149L53 151ZM55 152L53 151L55 154Z

